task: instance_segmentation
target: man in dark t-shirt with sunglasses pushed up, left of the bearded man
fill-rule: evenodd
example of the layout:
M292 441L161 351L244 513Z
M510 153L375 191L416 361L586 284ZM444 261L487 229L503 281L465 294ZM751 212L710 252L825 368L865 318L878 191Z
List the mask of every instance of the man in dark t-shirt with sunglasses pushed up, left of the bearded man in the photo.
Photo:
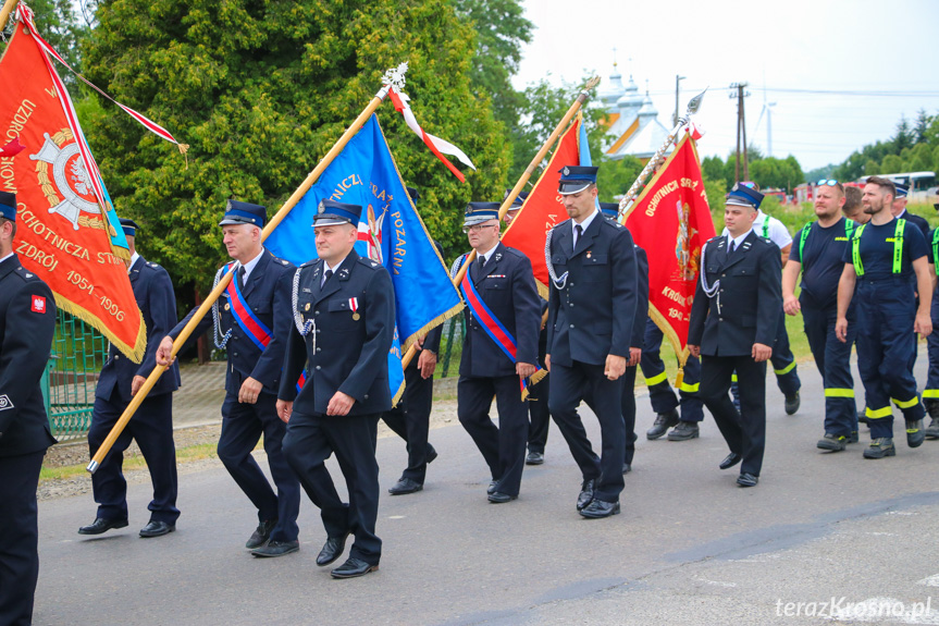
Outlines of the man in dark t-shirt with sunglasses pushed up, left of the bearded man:
M857 407L851 376L851 346L856 333L854 307L847 311L847 342L837 341L838 280L844 263L841 258L857 228L841 216L844 187L838 181L818 181L815 187L815 222L795 234L795 244L782 272L782 308L794 316L802 311L802 323L812 356L825 385L825 437L821 450L840 452L857 442ZM802 273L802 292L795 297L795 281Z

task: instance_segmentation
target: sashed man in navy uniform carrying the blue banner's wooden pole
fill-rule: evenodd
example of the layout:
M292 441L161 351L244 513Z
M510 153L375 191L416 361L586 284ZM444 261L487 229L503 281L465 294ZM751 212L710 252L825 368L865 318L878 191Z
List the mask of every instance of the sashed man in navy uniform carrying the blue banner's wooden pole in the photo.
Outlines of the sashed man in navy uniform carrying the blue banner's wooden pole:
M291 327L294 266L279 259L261 244L267 216L262 206L228 200L219 225L222 226L222 242L235 262L219 269L215 284L223 272L234 271L235 277L215 302L211 318L206 316L199 321L186 345L214 327L215 346L227 351L219 458L258 510L258 527L245 548L255 556L272 557L299 550L300 484L284 457L282 444L286 428L276 409L284 346ZM163 339L158 363L166 361L173 340L193 315L195 310ZM276 493L251 456L262 434Z

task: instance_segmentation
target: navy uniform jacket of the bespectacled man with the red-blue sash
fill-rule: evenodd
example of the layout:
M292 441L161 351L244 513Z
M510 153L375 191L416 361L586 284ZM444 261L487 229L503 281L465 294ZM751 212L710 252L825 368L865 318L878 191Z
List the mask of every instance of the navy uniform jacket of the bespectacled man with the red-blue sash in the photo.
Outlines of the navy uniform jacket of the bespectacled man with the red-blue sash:
M473 265L479 260L473 260ZM534 284L531 261L515 248L502 243L495 249L481 272L472 268L467 275L480 298L492 315L515 337L516 360L538 365L538 334L541 330L541 298ZM481 322L465 309L467 332L460 357L460 376L498 377L515 376L515 364L486 334Z

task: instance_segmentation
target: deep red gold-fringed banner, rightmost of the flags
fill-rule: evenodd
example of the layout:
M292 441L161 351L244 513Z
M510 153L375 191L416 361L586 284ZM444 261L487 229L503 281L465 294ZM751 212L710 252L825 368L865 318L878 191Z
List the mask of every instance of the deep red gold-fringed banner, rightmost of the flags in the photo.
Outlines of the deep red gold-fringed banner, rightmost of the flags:
M716 234L697 150L687 133L630 207L625 223L648 255L648 315L683 365L701 248Z

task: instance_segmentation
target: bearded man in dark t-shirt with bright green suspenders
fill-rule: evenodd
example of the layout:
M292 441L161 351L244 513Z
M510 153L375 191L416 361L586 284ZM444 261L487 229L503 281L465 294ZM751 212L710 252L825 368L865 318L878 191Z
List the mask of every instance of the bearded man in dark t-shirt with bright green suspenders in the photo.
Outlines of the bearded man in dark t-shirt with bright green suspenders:
M926 260L926 240L911 222L890 213L893 183L872 176L864 187L864 211L870 221L854 231L844 249L844 270L838 284L836 333L848 341L848 309L857 303L857 369L867 397L870 446L865 458L894 456L890 401L903 412L906 443L916 447L925 439L925 410L916 394L909 363L916 349L915 332L932 332L929 303L932 278ZM856 294L855 294L856 286ZM919 294L919 304L914 300Z

